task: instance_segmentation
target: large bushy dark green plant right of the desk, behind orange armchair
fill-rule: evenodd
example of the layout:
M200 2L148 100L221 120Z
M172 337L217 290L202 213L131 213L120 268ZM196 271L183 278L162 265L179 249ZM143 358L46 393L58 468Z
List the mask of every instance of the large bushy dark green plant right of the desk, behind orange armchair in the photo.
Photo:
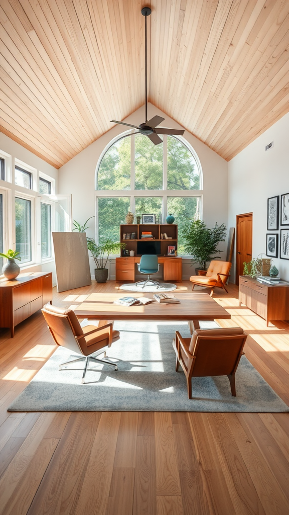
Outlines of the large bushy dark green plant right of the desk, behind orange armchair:
M223 252L217 247L220 242L225 241L226 230L225 224L218 226L217 223L209 229L203 220L188 220L184 224L182 235L185 239L185 251L193 256L191 261L198 263L200 270L206 270L207 263L212 259L221 258L215 254Z

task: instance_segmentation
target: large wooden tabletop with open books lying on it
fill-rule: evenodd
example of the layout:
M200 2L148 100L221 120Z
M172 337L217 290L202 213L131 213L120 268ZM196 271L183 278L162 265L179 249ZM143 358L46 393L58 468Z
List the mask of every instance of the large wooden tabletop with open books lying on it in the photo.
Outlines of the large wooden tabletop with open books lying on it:
M98 320L214 320L231 318L231 315L218 302L205 293L174 293L179 304L159 304L153 302L141 306L122 306L113 301L121 297L149 297L152 293L69 295L60 303L70 307L78 318Z

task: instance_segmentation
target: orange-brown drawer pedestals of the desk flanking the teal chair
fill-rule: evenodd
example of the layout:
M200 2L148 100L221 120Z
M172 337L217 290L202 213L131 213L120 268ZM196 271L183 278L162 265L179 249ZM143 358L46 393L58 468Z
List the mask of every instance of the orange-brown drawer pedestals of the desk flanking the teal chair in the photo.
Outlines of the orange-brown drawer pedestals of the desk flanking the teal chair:
M132 258L116 258L115 260L115 280L134 281L135 263L140 262L141 256ZM157 256L159 264L164 265L164 281L182 281L182 258L173 256Z

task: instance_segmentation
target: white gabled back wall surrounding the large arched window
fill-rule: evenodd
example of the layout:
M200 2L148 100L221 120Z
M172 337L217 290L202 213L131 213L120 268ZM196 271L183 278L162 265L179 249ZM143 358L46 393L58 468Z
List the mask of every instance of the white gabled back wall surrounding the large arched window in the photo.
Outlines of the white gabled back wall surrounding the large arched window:
M165 118L161 124L163 127L173 129L182 128L166 114L155 108L152 104L148 105L148 118L154 115ZM131 114L125 122L139 125L145 120L145 106ZM110 141L118 134L127 130L125 126L117 125L101 138L89 145L75 158L59 169L59 193L71 193L73 198L73 218L81 224L90 216L95 215L95 170L101 152ZM215 222L218 224L227 221L227 182L228 182L228 163L218 156L213 150L197 140L188 131L185 131L184 138L192 145L200 159L204 175L203 189L203 219L209 227ZM177 223L177 220L176 220ZM95 236L95 220L89 220L90 228L87 235ZM226 244L220 244L220 249L226 250ZM225 252L224 252L225 257ZM91 263L93 274L93 263ZM186 279L194 272L190 263L184 263L183 278ZM112 266L112 278L114 277L114 267Z

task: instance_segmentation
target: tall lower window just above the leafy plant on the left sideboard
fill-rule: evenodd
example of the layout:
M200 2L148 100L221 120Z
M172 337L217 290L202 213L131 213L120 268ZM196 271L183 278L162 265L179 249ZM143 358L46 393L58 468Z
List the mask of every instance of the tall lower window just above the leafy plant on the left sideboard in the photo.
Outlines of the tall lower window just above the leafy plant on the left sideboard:
M21 263L31 261L31 201L15 198L16 250L21 253Z

